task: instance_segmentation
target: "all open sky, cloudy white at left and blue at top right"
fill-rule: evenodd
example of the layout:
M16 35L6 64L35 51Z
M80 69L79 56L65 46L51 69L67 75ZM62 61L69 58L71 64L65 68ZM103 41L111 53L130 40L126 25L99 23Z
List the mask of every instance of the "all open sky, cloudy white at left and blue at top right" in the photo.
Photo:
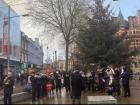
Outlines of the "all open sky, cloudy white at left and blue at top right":
M27 13L26 5L29 0L5 0L6 2L10 4L20 4L20 5L14 5L11 6L19 15L23 15ZM23 4L22 4L23 3ZM111 8L113 9L115 16L118 15L119 8L121 9L124 18L127 19L130 15L136 15L136 11L140 9L140 0L119 0L116 2L113 2L113 0L107 0L106 3L111 3ZM38 28L32 27L29 22L29 17L20 17L21 20L21 30L25 32L26 35L34 39L35 37L39 37L41 33L41 29L38 30ZM46 33L46 35L49 33ZM46 38L46 39L45 39ZM47 37L41 37L41 40L43 40L43 48L45 53L45 59L47 57L47 49L46 47L49 46L50 49L50 55L53 54L53 52L56 50L58 52L59 57L63 59L64 58L64 48L62 47L63 40L58 35L57 38L54 38L54 40L47 38Z

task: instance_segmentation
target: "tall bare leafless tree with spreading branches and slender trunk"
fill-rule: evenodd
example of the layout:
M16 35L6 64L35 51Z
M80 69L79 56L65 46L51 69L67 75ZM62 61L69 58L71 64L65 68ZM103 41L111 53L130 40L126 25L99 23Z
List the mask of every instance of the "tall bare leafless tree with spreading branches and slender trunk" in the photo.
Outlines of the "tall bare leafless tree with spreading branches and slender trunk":
M37 0L30 5L30 15L35 23L62 33L65 40L66 71L69 45L81 22L83 4L84 0Z

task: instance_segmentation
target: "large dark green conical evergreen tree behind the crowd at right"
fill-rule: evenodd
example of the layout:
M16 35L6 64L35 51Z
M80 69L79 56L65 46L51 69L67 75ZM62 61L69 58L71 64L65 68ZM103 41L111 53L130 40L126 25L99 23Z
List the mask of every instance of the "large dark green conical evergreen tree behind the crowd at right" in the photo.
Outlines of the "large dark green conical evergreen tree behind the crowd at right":
M115 35L119 24L111 15L110 5L105 6L104 0L93 1L91 14L86 17L87 24L79 28L77 44L81 51L80 58L87 64L130 64L132 52L124 40L126 33Z

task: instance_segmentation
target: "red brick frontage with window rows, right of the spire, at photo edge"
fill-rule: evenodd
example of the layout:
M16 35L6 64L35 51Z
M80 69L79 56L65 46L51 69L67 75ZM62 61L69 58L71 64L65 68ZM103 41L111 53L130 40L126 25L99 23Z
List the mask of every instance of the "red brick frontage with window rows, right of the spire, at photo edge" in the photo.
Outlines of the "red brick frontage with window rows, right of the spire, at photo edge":
M130 41L129 49L140 49L140 9L136 16L128 17L129 29L127 30L127 39ZM133 67L140 70L140 54L133 56Z

